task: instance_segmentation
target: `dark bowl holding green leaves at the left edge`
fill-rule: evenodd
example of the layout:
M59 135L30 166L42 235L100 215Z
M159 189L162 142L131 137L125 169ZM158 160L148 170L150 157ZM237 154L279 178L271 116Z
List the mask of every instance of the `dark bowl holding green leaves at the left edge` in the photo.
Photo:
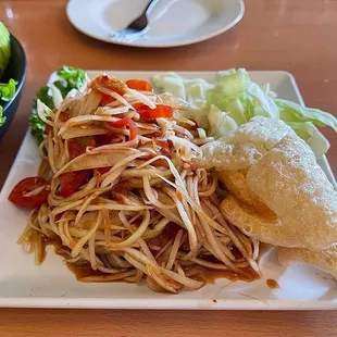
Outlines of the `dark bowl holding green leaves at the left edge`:
M0 127L0 139L7 133L15 116L26 78L26 54L21 43L13 35L11 35L11 47L12 52L10 63L3 76L1 77L1 82L8 82L10 78L13 78L17 82L17 86L15 96L12 98L12 100L5 102L3 105L3 115L7 117L7 120L5 123Z

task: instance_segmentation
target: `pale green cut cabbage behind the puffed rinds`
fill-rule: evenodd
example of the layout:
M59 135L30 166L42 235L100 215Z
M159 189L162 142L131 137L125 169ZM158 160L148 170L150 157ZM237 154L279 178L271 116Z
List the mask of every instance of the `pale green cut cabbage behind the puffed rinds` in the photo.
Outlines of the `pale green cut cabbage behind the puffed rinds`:
M245 68L219 72L212 83L185 79L175 73L152 77L155 89L171 92L188 103L184 116L198 123L215 138L225 136L257 115L282 120L304 139L320 159L329 148L327 139L314 126L337 132L332 114L278 99L270 85L253 83Z

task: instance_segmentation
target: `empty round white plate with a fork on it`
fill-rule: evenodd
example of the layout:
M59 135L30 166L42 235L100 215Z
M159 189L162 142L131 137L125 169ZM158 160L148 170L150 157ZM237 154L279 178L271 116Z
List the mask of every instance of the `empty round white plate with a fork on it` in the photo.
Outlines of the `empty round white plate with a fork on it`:
M149 13L149 30L134 39L116 39L143 11L148 0L71 0L70 22L82 33L111 43L176 47L203 41L230 29L242 17L244 0L158 0Z

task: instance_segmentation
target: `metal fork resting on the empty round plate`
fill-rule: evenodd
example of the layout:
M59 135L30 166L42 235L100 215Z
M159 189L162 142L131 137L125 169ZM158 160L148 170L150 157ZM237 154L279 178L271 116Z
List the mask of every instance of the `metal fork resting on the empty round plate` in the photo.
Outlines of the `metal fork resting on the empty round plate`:
M133 40L149 30L148 15L159 0L151 0L142 13L122 30L110 34L110 38L117 41Z

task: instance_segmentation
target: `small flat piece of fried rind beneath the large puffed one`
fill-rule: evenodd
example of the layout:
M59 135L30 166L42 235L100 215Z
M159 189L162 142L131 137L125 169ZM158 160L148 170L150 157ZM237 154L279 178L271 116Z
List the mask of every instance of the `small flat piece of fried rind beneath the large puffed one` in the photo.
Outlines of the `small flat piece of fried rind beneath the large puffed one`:
M309 263L337 278L337 242L321 251L278 248L277 255L279 264L284 267L292 263Z

